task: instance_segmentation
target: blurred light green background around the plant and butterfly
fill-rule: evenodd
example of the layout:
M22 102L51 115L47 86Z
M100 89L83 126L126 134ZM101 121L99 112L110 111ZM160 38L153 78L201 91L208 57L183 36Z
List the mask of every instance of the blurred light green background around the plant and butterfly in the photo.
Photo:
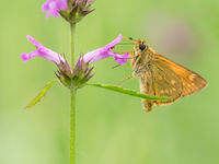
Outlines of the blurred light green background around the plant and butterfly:
M69 92L56 84L32 109L24 106L56 66L21 52L34 50L32 35L69 54L69 25L41 11L44 0L2 1L0 25L0 164L68 164ZM219 1L96 0L95 12L77 27L77 54L104 46L119 33L147 39L159 54L198 72L208 86L173 105L142 110L141 101L96 87L77 96L78 164L219 163ZM131 49L131 47L124 47ZM95 63L91 82L116 83L130 65ZM139 90L138 80L122 84Z

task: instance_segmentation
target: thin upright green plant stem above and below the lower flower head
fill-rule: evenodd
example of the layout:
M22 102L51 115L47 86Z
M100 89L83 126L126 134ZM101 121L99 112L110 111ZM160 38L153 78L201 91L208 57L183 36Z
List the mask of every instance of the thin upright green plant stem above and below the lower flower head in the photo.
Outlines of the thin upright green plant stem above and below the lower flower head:
M70 24L71 27L71 69L74 68L74 34L76 24ZM70 90L70 164L76 164L76 90Z

